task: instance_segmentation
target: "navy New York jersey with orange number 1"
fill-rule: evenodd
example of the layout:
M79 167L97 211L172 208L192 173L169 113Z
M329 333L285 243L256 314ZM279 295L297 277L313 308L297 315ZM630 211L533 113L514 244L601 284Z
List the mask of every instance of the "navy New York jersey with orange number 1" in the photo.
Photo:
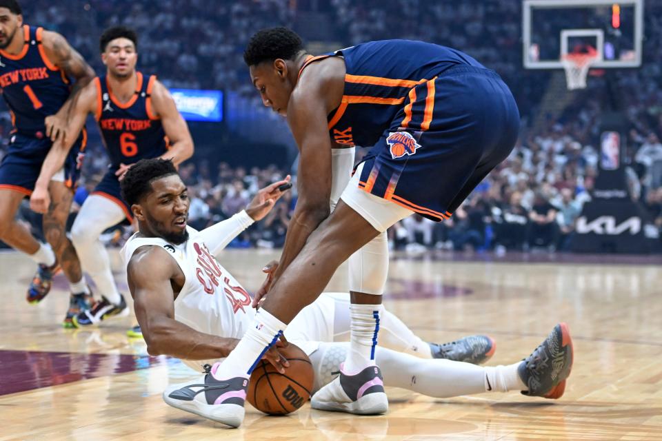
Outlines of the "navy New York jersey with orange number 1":
M25 45L20 54L0 50L0 89L12 112L14 130L43 138L46 116L56 114L70 94L70 80L46 56L43 28L23 25Z

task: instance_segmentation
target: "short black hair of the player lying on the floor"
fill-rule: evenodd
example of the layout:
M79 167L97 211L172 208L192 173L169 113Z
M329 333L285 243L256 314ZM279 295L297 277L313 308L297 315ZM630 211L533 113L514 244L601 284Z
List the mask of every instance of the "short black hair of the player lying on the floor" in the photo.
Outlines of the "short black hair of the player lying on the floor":
M152 191L152 181L177 174L170 159L141 159L124 175L121 182L122 197L129 205L137 204Z

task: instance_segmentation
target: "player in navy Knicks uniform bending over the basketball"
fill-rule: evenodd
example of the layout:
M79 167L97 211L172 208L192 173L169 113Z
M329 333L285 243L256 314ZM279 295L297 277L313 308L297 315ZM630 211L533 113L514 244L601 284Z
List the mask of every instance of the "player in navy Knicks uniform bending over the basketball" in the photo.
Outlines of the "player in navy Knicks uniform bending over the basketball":
M297 34L274 28L252 37L244 59L264 105L287 116L299 146L299 199L255 325L217 378L232 384L249 378L261 353L353 255L350 268L363 274L350 278L350 353L312 406L384 413L388 400L374 353L388 264L385 231L414 212L448 218L510 154L517 106L495 72L458 50L420 41L376 41L312 57ZM333 143L372 150L329 214ZM568 352L559 345L551 355ZM530 384L529 393L553 396L561 382L559 376L543 388Z

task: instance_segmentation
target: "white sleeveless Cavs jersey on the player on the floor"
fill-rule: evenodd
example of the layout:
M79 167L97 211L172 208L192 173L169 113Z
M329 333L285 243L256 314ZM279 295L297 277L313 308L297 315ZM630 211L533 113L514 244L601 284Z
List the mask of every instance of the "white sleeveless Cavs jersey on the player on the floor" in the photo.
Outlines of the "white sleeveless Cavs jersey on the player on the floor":
M241 338L255 314L248 291L212 256L202 235L191 227L186 229L189 238L181 245L134 234L122 249L125 264L139 247L162 247L177 262L185 278L174 300L175 320L205 334Z

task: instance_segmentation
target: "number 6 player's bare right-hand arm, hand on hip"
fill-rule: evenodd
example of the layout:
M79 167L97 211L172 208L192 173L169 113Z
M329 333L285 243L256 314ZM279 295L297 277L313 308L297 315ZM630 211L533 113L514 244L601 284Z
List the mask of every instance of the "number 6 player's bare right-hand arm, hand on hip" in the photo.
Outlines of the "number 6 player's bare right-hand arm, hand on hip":
M152 113L161 118L165 136L170 140L170 149L161 158L172 159L172 163L177 166L193 156L193 139L188 125L174 105L170 92L159 81L154 82L151 103Z

